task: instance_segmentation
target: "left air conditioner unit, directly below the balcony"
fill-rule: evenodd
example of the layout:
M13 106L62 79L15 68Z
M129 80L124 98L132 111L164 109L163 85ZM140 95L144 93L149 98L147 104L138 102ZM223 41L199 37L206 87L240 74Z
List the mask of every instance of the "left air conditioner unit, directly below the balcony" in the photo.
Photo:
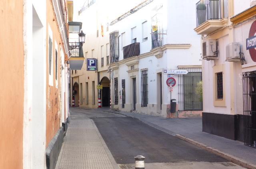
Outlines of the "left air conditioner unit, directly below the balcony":
M218 59L216 51L216 40L210 39L202 43L203 59L212 60Z

